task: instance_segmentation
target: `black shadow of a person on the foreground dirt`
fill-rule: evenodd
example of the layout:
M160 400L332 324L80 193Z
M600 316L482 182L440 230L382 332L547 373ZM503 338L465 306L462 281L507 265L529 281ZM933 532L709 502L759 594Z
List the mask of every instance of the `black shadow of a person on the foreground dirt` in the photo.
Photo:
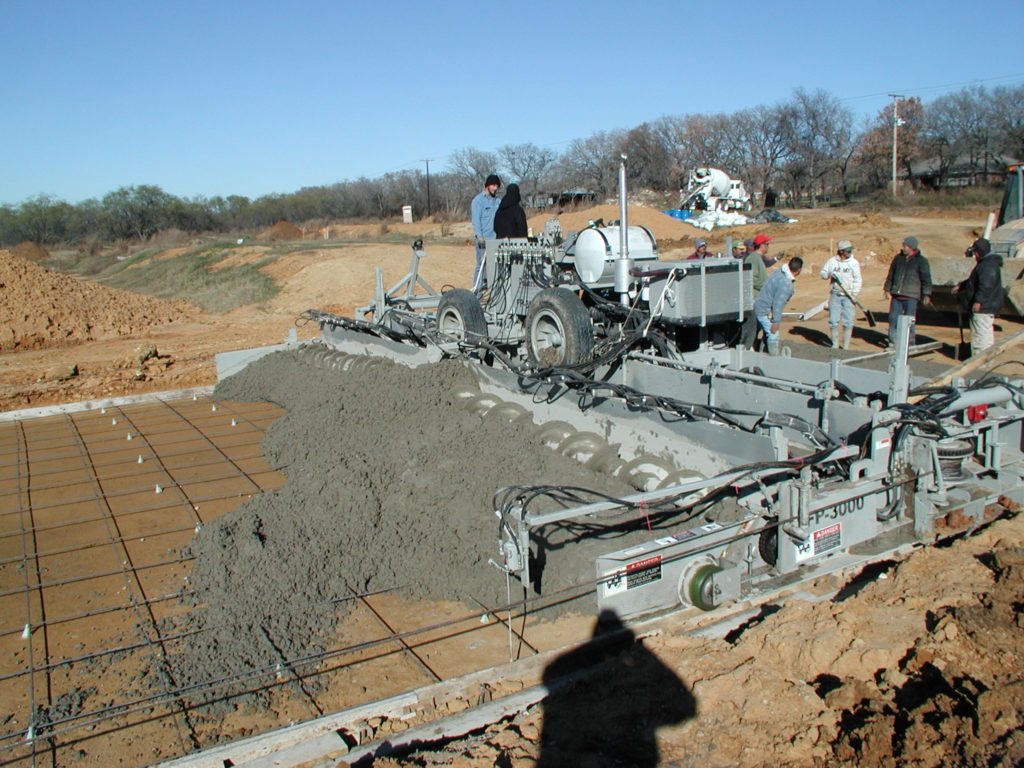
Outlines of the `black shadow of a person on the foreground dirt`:
M683 681L612 610L601 612L586 644L548 665L544 684L538 768L654 768L654 731L696 714Z

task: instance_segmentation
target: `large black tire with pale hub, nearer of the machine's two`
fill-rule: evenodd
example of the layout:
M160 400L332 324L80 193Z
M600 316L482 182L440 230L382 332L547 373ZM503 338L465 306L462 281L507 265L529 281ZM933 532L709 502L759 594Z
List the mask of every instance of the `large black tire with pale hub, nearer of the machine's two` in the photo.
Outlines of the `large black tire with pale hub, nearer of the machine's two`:
M526 353L545 368L586 362L594 351L594 324L583 301L564 288L546 288L526 310Z

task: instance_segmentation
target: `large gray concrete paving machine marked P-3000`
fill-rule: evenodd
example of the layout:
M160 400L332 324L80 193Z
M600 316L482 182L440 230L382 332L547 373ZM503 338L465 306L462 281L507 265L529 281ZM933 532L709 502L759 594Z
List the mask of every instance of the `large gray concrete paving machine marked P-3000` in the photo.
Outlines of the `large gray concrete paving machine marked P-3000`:
M415 296L417 244L404 293L378 273L361 317L307 312L325 365L462 356L481 414L544 423L557 450L629 478L622 498L499 489L498 541L481 546L509 579L536 589L553 538L592 537L607 549L580 575L599 608L707 610L1024 502L1024 381L994 370L930 386L907 365L909 318L893 350L860 358L717 346L751 309L742 262L659 261L621 209L609 226L489 243L482 300Z

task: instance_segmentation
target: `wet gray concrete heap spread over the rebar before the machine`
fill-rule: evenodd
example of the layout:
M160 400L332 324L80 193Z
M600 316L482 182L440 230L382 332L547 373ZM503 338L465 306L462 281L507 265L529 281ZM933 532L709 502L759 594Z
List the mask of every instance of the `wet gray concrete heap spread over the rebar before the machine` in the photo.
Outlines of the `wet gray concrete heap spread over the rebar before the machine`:
M488 563L500 559L499 487L635 493L546 447L532 424L484 420L459 407L453 390L476 384L461 362L411 370L385 361L339 373L306 359L279 352L217 386L219 398L285 408L263 447L288 479L207 524L190 544L199 598L175 630L200 632L170 659L176 686L337 647L337 620L353 593L399 588L416 599L504 605L505 577ZM593 579L595 556L650 538L641 527L557 548L545 564L544 593ZM594 603L591 593L571 607L589 611Z

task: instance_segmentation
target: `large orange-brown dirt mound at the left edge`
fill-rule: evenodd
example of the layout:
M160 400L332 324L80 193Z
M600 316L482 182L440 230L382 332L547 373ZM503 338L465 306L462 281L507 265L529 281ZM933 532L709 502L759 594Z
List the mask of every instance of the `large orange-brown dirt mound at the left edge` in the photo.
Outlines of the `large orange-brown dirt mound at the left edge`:
M165 301L78 281L0 251L0 352L130 336L187 319L184 301Z

